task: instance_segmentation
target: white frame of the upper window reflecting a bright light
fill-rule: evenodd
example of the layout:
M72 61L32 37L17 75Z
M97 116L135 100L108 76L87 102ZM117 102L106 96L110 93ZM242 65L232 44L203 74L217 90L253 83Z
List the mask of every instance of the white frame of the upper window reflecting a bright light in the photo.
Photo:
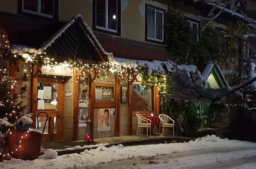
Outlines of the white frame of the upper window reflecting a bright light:
M105 0L105 27L97 26L97 1L95 0L95 27L96 29L117 33L118 30L118 1L116 0L116 30L108 28L108 0Z

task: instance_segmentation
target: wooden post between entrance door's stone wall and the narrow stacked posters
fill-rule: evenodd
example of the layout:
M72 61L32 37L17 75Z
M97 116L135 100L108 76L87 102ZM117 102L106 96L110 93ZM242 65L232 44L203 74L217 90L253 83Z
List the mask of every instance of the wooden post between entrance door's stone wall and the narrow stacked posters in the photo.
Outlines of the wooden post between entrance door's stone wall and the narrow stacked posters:
M76 68L74 68L73 79L73 132L72 140L76 141L78 136L78 82L76 75Z

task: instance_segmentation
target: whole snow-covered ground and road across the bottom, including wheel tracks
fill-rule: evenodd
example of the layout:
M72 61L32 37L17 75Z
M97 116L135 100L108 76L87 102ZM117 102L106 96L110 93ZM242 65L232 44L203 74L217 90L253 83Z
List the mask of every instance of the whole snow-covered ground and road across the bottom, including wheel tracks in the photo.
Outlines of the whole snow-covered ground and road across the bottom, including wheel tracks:
M214 135L188 143L158 145L113 146L99 145L97 149L80 154L56 157L54 151L34 161L12 159L3 161L0 168L11 169L251 169L256 168L256 143L220 139ZM46 159L54 158L54 159Z

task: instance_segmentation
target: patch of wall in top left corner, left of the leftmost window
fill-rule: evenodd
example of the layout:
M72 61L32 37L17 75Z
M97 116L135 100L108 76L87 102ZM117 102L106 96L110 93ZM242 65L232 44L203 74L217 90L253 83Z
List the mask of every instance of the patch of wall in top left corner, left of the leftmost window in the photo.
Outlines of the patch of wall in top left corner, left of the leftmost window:
M18 0L0 0L0 11L18 14Z

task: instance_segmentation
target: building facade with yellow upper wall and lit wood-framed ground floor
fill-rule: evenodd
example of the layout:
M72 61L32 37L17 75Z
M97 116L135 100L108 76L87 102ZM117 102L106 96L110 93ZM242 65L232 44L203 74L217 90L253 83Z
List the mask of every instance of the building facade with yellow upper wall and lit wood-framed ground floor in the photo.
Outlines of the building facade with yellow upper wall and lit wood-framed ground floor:
M198 41L198 16L207 13L209 5L192 1L0 0L0 25L11 55L88 63L80 69L52 69L44 63L10 61L12 78L29 75L28 81L18 82L16 92L26 89L21 99L33 113L32 127L42 130L46 116L37 115L49 115L43 141L84 139L88 119L93 138L130 135L137 131L136 113L160 113L156 86L144 90L139 78L124 80L114 72L99 72L93 64L106 63L106 52L131 60L172 60L165 50L168 6L183 11ZM239 19L226 12L212 26L225 30L234 18Z

